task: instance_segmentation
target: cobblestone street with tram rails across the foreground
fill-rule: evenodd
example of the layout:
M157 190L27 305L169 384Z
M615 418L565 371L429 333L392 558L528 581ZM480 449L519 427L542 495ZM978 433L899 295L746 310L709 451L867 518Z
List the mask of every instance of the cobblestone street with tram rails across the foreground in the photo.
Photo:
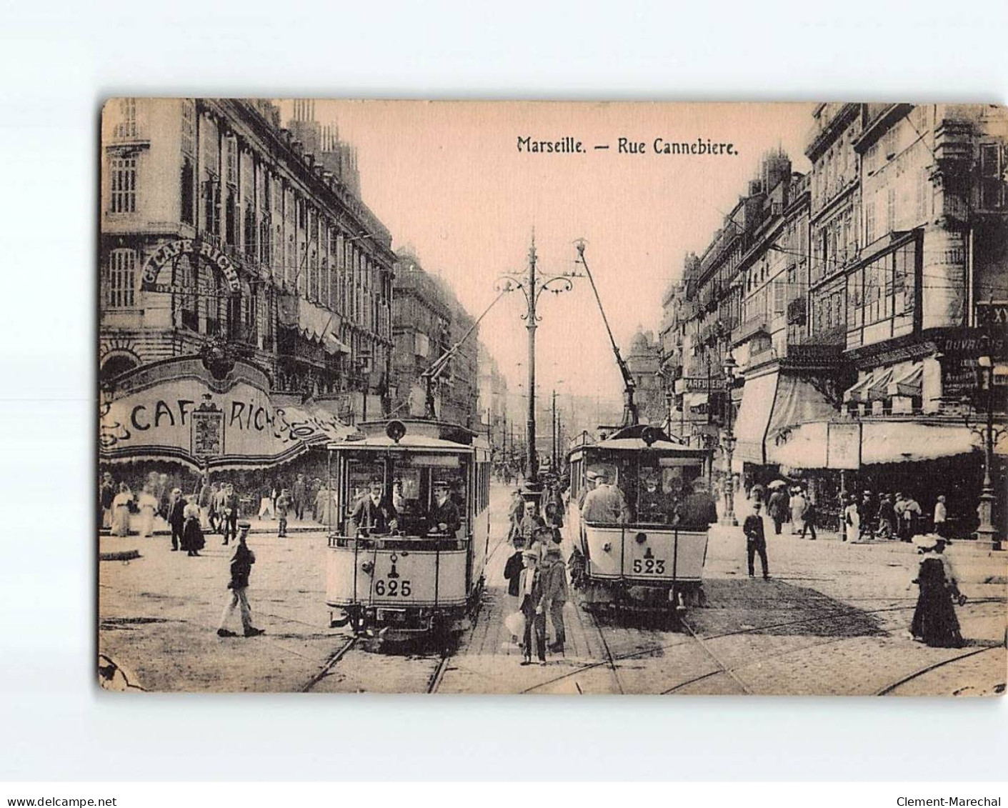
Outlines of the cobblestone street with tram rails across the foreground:
M503 619L513 609L503 566L506 491L495 488L487 588L473 628L443 655L415 647L374 652L330 629L323 532L253 534L250 599L262 637L221 639L229 549L208 537L203 557L166 536L103 538L132 561L100 567L100 653L147 690L317 692L760 693L982 695L1005 683L1003 556L964 543L951 557L969 596L958 610L968 645L910 640L915 555L906 544L847 545L771 536L770 580L745 574L741 530L715 527L708 604L673 620L617 620L565 609L568 646L523 667ZM904 681L905 680L905 681ZM964 686L969 681L970 686Z

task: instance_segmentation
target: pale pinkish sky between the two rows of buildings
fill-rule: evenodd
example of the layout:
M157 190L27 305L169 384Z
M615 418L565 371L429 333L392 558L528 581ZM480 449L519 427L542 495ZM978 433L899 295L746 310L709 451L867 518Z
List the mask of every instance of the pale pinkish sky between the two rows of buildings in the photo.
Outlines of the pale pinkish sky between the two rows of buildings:
M657 331L661 294L700 253L723 214L781 146L792 169L803 155L811 104L645 104L319 101L316 117L337 123L358 150L361 191L424 269L455 288L478 315L503 272L527 269L532 228L539 268L575 269L579 238L624 354L638 325ZM283 104L283 121L290 105ZM520 153L518 137L581 140L584 154ZM643 141L620 154L617 139ZM733 143L737 155L655 154L653 141ZM608 150L595 150L609 144ZM509 384L524 381L524 303L505 296L480 335ZM618 396L621 384L587 279L540 297L538 382L579 394ZM562 380L562 381L560 381Z

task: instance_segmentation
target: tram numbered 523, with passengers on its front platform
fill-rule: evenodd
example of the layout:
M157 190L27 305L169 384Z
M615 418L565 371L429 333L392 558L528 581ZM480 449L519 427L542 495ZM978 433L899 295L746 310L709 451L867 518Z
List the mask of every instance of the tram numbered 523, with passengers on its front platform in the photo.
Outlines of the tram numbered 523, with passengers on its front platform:
M627 610L681 611L703 602L707 525L677 524L677 505L709 468L712 451L683 446L653 426L633 424L570 452L569 524L584 556L582 602ZM590 478L605 479L625 510L586 513ZM672 524L676 523L676 524Z

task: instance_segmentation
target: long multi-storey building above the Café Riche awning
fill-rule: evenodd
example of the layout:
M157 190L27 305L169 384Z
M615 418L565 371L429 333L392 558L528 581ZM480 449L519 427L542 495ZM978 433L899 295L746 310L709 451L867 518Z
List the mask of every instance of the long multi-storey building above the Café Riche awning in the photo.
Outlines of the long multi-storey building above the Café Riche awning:
M277 107L114 100L102 161L104 385L209 352L254 365L281 399L344 420L381 414L391 239Z

